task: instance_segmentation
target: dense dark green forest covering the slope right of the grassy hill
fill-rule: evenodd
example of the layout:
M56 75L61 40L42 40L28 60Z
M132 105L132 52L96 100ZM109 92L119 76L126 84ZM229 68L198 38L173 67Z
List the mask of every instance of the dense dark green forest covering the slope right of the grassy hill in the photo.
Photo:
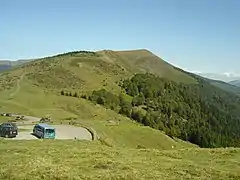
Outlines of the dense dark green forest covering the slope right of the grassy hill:
M200 147L240 146L240 98L198 81L186 85L136 74L120 85L126 94L102 89L88 99Z

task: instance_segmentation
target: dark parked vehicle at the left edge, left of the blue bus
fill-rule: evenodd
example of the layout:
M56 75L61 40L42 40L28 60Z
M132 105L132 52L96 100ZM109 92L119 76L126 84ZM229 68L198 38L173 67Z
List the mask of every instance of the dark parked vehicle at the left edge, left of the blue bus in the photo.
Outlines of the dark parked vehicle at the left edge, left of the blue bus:
M14 123L2 123L0 125L0 136L1 137L16 137L18 135L17 125Z

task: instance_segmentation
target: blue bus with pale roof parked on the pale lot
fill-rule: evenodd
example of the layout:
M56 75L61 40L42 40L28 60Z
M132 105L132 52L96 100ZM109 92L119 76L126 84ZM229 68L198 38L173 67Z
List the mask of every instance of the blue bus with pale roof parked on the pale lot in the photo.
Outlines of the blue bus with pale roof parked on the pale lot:
M55 139L55 128L44 123L36 124L33 134L41 139Z

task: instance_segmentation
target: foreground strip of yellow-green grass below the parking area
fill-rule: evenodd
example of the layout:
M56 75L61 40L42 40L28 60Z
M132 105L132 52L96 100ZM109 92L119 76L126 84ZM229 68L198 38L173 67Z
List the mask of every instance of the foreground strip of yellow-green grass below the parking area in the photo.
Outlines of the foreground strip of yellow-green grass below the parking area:
M110 148L98 142L0 141L0 179L239 179L239 149Z

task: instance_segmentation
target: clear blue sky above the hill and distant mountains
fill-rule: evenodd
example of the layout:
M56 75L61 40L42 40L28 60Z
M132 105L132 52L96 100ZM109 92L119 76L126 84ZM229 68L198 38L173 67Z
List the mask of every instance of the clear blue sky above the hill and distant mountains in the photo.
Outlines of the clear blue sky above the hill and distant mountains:
M0 0L0 59L146 48L186 70L240 73L238 0Z

